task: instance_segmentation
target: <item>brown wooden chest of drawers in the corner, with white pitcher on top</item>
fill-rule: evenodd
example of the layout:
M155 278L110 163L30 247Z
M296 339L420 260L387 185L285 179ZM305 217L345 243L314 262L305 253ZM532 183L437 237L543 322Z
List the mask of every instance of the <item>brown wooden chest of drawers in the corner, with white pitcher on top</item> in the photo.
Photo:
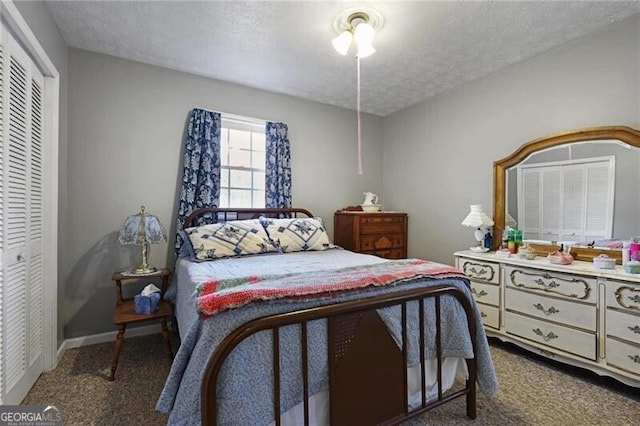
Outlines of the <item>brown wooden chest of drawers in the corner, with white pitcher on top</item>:
M387 259L407 257L407 214L343 211L334 215L333 242L347 250Z

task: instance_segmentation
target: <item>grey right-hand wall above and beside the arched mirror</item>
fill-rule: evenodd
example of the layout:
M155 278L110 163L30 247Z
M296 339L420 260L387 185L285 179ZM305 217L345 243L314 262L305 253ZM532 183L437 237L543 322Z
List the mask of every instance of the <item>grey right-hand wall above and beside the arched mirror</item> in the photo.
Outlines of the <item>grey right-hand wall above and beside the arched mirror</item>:
M384 118L385 204L409 213L409 256L453 263L492 215L493 162L573 129L640 124L640 18Z

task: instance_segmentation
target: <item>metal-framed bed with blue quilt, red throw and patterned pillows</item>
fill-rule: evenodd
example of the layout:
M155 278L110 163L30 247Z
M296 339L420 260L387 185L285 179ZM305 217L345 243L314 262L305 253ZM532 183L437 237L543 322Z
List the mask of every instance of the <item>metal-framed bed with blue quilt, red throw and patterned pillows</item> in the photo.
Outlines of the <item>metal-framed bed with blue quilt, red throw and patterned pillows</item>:
M242 235L262 228L273 244L207 245L211 229L247 223ZM332 246L304 209L201 209L181 236L190 250L166 296L181 345L156 405L169 424L397 424L461 397L475 418L476 384L497 390L468 280L450 266Z

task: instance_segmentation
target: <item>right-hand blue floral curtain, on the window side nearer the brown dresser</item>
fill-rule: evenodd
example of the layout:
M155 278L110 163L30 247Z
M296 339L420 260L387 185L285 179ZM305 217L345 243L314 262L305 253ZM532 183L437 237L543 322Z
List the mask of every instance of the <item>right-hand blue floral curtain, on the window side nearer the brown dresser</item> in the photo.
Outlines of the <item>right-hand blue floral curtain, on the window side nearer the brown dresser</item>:
M291 148L288 130L284 123L266 122L265 207L291 207Z

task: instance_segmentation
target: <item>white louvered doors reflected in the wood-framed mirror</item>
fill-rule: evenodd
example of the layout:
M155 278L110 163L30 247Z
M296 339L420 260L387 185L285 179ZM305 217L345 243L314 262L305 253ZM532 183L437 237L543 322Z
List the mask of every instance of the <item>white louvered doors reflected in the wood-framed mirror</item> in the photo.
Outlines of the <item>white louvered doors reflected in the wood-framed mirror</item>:
M518 167L518 227L528 240L611 238L615 157Z

